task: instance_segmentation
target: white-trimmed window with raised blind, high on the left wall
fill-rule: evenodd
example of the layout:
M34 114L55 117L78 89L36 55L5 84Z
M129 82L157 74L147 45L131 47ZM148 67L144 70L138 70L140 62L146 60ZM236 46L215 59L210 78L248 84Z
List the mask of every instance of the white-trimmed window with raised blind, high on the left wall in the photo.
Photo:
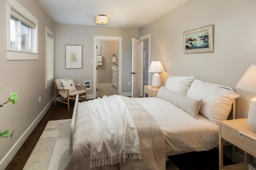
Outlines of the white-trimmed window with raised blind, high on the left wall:
M6 59L38 59L38 20L18 2L6 2Z

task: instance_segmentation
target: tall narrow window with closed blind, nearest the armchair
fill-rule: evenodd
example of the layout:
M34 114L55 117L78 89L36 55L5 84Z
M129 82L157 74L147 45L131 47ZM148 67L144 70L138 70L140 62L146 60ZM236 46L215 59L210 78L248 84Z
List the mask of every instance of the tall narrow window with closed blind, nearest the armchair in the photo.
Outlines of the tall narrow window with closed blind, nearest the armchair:
M46 27L46 89L54 79L54 33Z

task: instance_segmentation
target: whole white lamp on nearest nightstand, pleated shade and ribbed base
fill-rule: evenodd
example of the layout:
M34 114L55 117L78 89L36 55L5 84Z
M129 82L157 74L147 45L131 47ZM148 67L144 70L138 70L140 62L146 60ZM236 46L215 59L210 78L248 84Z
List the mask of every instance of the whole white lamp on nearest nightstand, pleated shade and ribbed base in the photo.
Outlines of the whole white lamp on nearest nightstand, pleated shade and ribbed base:
M236 88L256 93L256 64L252 64L236 84ZM256 97L250 100L248 124L256 132Z

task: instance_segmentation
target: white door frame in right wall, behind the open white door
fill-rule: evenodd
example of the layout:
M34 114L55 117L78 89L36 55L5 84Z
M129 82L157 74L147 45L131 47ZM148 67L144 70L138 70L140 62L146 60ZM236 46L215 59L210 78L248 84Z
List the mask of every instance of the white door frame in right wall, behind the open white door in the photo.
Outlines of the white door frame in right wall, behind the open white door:
M150 33L143 35L139 37L139 40L141 41L141 49L140 49L140 68L143 68L143 41L148 40L148 68L150 66ZM145 70L146 71L146 70ZM140 84L141 84L141 89L143 89L143 69L142 72L140 73ZM150 84L150 73L148 72L148 85ZM141 90L140 96L143 96L143 90Z

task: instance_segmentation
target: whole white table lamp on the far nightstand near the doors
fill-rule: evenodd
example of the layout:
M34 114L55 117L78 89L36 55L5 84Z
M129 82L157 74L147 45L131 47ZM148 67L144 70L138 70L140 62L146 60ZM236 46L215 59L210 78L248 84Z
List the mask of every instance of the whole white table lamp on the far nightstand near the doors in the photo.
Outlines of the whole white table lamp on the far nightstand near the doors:
M161 81L160 81L160 76L159 76L158 72L163 72L163 71L164 71L164 67L162 66L160 61L152 61L151 62L148 72L155 73L152 78L152 86L154 88L160 88Z

